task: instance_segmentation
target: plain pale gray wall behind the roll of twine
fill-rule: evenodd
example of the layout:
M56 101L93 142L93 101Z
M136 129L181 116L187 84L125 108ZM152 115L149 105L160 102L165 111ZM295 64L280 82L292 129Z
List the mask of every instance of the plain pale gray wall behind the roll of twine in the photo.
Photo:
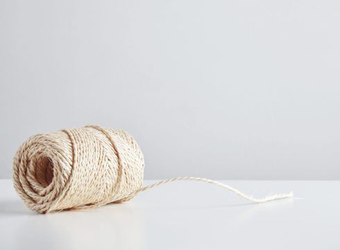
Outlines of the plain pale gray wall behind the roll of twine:
M340 179L339 1L0 0L0 178L99 124L146 178Z

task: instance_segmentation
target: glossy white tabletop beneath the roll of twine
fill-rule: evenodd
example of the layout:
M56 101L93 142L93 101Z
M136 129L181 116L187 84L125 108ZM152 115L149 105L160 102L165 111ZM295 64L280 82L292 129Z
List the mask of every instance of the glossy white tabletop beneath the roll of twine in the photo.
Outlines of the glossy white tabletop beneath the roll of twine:
M146 181L145 183L152 183ZM0 249L340 249L340 181L223 181L254 204L207 183L169 183L124 204L38 215L0 181Z

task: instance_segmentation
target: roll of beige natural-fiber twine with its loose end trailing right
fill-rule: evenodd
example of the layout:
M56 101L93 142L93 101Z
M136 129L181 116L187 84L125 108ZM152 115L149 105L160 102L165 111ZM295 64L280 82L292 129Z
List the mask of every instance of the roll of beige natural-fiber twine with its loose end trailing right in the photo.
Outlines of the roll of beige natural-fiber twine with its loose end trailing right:
M212 183L253 202L293 196L290 192L256 199L196 177L170 178L142 188L143 173L144 158L137 142L124 131L99 126L33 135L19 147L13 163L15 190L38 213L121 203L172 181Z

